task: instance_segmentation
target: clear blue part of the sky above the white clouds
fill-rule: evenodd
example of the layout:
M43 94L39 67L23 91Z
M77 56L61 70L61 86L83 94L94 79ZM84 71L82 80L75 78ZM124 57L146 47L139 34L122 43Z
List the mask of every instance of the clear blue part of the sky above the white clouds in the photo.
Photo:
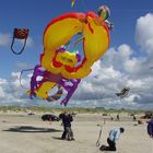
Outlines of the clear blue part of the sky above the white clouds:
M39 55L43 52L43 33L54 17L67 12L96 11L102 4L109 7L109 21L115 26L110 32L109 48L118 51L119 46L126 44L132 50L129 57L132 62L134 59L139 61L140 58L145 58L150 51L145 52L146 46L136 37L136 26L138 19L153 13L153 1L151 0L75 0L74 8L71 8L71 0L0 0L0 78L9 82L12 72L33 68L39 62ZM148 26L150 27L150 24ZM14 27L30 28L30 44L20 56L13 55L10 50ZM106 55L106 58L104 56L103 60L107 62L108 57L109 55ZM131 59L131 57L133 58ZM113 64L117 63L110 66ZM114 67L120 73L125 71L118 68Z

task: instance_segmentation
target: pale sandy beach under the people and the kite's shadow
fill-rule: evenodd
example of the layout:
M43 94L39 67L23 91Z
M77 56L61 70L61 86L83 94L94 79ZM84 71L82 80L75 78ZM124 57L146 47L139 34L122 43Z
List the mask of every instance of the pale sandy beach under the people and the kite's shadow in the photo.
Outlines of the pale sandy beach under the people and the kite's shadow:
M75 141L67 141L60 139L61 121L50 125L42 121L40 114L28 116L25 113L0 114L0 153L101 153L96 146L98 123L103 126L101 145L107 144L111 128L123 127L117 153L153 153L146 123L137 125L130 117L122 117L120 121L106 119L104 125L101 114L78 114L72 122Z

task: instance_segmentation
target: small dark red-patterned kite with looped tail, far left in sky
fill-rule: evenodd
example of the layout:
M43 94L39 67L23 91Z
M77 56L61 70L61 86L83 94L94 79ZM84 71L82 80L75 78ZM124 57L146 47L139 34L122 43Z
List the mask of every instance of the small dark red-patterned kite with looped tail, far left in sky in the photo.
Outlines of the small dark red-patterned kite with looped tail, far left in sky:
M26 39L28 37L28 32L30 30L28 28L14 28L14 32L13 32L13 39L12 39L12 44L11 44L11 50L13 54L15 55L21 55L25 48L25 45L26 45ZM14 49L13 49L13 46L14 46L14 43L15 43L15 39L23 39L24 43L23 43L23 47L21 48L21 50L19 52L16 52Z

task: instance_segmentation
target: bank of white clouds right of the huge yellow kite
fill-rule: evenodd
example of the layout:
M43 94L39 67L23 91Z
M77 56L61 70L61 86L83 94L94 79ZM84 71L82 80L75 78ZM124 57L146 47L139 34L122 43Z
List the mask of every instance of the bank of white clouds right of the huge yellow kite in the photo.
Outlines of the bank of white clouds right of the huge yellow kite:
M76 92L80 99L97 102L97 106L153 109L153 105L150 105L153 103L153 70L149 69L153 66L153 14L140 17L136 32L137 43L148 54L144 57L136 56L128 44L117 49L110 48L103 60L93 66L92 74L84 80L86 85L80 85L80 92ZM120 101L115 93L125 86L130 87L130 94Z

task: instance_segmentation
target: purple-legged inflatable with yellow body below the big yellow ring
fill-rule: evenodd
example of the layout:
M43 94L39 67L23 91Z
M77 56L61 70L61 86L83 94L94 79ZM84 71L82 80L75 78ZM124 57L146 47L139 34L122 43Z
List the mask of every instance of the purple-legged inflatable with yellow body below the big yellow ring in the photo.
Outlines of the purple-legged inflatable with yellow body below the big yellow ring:
M54 102L58 101L62 96L62 90L64 89L68 94L61 101L61 104L67 105L68 101L73 95L81 80L67 80L60 74L54 74L46 70L42 70L40 68L42 67L39 64L36 66L33 76L31 78L31 91L28 91L30 97L33 98L37 95L38 97L45 98L47 102ZM43 79L40 81L37 81L39 76L42 76ZM49 96L47 92L54 86L58 86L58 91L55 95Z

